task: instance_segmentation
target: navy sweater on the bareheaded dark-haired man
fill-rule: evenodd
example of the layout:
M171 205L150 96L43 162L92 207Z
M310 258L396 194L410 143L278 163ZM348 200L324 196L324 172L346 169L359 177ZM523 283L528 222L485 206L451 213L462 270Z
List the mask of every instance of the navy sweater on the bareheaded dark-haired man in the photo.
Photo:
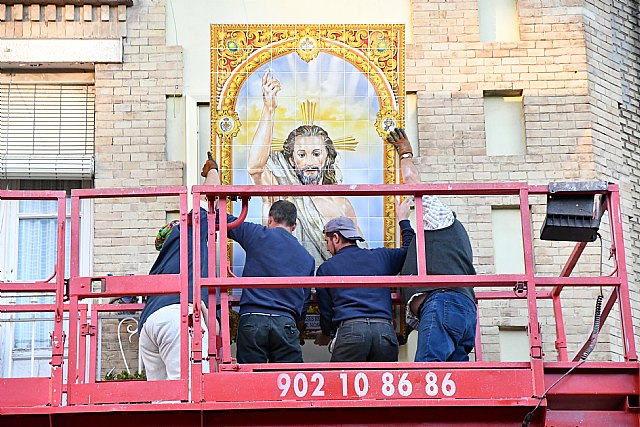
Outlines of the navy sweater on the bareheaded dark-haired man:
M227 215L228 222L235 219ZM246 252L243 277L313 276L313 257L284 228L243 222L227 234ZM240 315L277 314L298 320L308 294L309 290L302 288L245 288L240 298Z

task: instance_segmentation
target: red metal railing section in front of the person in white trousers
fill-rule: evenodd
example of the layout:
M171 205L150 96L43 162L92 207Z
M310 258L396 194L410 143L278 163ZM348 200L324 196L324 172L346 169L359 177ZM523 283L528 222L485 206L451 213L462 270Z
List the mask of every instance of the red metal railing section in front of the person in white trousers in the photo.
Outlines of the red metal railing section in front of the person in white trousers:
M69 369L67 401L70 405L86 405L116 402L145 402L154 400L186 401L189 395L189 339L188 339L188 254L187 245L180 247L180 274L154 276L79 276L80 247L80 201L82 199L104 199L119 197L160 197L177 196L180 203L180 239L187 242L187 190L185 187L73 190L71 193L71 277L69 278L69 312L75 319L79 302L86 298L117 297L125 295L180 294L182 312L180 337L179 380L167 381L158 387L152 382L99 382L95 381L95 360L91 359L85 378L86 360L80 358L78 348L73 343L78 340L80 325L69 324ZM94 287L100 287L95 292ZM118 308L122 310L121 307ZM92 345L96 345L92 340ZM93 353L92 353L93 354Z

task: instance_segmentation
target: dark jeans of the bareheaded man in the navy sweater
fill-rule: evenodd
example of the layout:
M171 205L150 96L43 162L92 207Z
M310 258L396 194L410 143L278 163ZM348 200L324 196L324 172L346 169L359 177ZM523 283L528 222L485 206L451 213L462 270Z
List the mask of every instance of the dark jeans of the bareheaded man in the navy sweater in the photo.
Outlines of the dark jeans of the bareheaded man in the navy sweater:
M302 363L300 332L288 316L240 316L237 345L238 363Z

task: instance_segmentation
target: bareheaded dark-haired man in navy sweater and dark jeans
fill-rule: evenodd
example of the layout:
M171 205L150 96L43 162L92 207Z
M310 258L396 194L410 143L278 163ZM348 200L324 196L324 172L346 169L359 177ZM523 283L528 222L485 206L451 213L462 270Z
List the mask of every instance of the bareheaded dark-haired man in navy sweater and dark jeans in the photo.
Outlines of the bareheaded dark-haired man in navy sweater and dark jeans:
M228 215L228 221L235 217ZM271 205L267 226L243 222L229 237L246 252L243 277L313 276L315 261L292 234L297 210L279 200ZM309 290L245 288L240 299L237 353L239 363L302 363L300 332Z

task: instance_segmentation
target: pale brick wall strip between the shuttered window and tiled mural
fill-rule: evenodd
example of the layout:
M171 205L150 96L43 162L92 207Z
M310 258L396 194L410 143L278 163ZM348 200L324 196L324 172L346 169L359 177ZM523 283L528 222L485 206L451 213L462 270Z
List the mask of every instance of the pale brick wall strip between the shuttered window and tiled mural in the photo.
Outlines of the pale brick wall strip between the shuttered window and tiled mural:
M182 91L182 50L165 43L164 2L127 9L122 64L96 65L95 186L182 185L182 164L165 154L166 96ZM176 200L96 202L96 274L146 274L153 240Z

